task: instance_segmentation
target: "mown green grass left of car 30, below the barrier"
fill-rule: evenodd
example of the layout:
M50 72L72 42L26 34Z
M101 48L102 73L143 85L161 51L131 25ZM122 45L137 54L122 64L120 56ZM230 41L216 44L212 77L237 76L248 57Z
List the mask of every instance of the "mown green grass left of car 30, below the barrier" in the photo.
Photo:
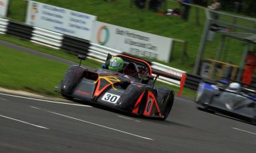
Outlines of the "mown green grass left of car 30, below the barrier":
M56 96L69 65L0 46L0 86Z

